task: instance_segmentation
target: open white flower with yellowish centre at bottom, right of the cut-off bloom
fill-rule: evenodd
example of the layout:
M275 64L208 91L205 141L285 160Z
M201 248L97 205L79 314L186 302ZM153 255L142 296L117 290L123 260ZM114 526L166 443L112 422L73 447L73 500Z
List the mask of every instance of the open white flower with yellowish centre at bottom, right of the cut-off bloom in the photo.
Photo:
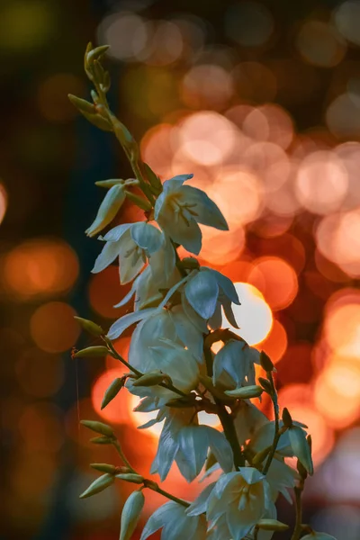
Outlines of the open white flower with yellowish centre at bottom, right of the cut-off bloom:
M206 502L201 495L186 513L196 516L206 509L208 521L217 524L222 519L222 529L228 527L231 538L241 540L257 525L259 519L269 511L274 513L268 491L263 474L253 467L240 467L236 473L220 476ZM221 538L214 536L216 540L218 537Z

